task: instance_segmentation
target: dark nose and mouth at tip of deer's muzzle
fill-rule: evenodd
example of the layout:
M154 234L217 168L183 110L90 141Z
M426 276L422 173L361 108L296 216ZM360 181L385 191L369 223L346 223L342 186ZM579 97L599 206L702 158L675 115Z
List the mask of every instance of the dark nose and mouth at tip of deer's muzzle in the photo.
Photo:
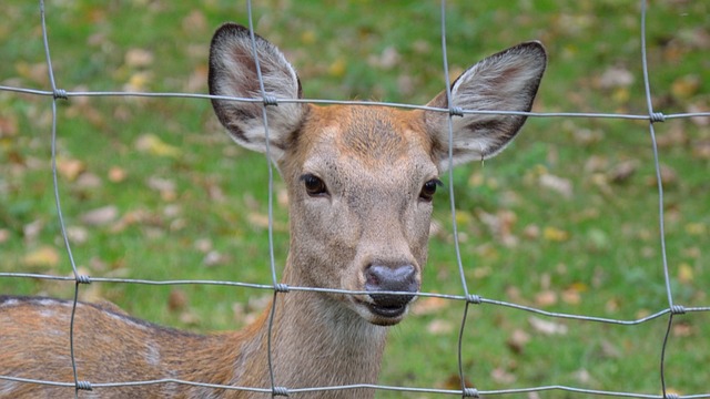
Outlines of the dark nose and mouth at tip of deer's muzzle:
M377 291L416 293L419 289L416 268L412 265L388 267L371 265L365 270L365 290L373 298L375 309L386 313L404 313L414 295L377 294Z

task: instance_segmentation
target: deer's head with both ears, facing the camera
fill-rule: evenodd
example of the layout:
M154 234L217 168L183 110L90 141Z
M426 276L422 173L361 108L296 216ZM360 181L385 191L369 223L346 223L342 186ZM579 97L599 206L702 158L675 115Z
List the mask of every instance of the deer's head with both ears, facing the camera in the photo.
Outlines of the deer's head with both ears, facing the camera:
M302 99L295 70L258 35L255 48L264 93L250 31L222 25L212 40L210 93L280 100L212 104L236 143L263 153L268 146L285 181L291 249L284 282L366 293L322 293L318 300L372 324L398 323L422 284L432 201L449 165L449 145L453 164L488 158L510 143L526 116L288 102ZM527 112L545 66L540 43L513 47L465 71L450 88L450 105ZM448 109L446 92L427 105Z

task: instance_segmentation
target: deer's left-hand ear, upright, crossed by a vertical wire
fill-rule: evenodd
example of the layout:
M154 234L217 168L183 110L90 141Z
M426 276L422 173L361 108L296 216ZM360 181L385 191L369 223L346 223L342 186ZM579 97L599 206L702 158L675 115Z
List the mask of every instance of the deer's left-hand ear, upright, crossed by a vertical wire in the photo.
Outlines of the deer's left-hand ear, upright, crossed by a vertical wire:
M255 40L265 94L276 99L302 98L296 71L283 53L260 35L255 35ZM214 33L210 47L209 84L210 94L213 95L263 98L248 29L236 23L225 23ZM234 141L246 149L266 152L262 102L213 99L212 106ZM266 106L270 154L273 161L283 155L307 109L307 105L301 103Z

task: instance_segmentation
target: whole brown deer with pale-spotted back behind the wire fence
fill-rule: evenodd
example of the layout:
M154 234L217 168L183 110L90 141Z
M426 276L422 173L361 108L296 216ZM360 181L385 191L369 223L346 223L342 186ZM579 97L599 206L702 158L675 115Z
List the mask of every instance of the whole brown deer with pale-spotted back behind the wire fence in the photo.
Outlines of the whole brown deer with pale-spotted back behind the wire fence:
M430 109L316 105L288 101L303 99L301 81L276 45L224 23L210 48L214 112L234 142L267 154L285 183L290 249L283 287L323 290L277 291L251 325L209 335L161 327L108 303L79 301L78 380L99 386L169 379L92 390L74 386L73 301L2 296L0 376L14 379L0 378L0 397L373 398L387 331L422 289L442 174L449 165L489 158L513 141L546 65L545 48L524 42L467 69L450 96L443 91ZM266 96L268 103L236 100ZM454 108L484 112L439 112ZM351 389L327 389L339 386Z

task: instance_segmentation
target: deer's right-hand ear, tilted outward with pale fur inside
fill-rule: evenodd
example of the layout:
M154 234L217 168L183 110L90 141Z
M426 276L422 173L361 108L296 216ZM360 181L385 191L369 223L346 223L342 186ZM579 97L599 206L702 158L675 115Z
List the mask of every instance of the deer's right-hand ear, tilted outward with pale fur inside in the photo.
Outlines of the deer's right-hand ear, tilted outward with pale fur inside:
M521 111L532 108L547 55L539 42L527 42L494 54L464 72L452 85L453 105L470 111ZM427 105L447 109L446 92ZM424 113L440 171L448 168L448 114ZM454 115L454 164L498 154L525 123L523 115Z

